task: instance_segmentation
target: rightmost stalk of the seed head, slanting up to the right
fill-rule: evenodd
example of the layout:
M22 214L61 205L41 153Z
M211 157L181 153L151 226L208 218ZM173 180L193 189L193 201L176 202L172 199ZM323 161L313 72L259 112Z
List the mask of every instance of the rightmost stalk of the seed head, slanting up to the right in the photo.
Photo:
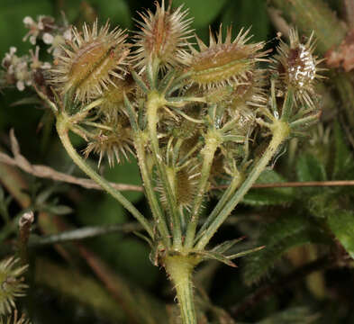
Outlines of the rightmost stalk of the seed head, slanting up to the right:
M208 229L205 230L204 235L200 238L195 246L195 249L203 249L216 230L222 225L222 222L231 214L231 211L241 202L244 195L250 190L252 184L256 182L261 172L266 168L269 161L277 153L277 148L283 143L289 134L289 125L284 121L275 121L272 125L273 137L268 145L267 150L264 152L263 156L260 157L256 166L253 167L250 175L241 184L239 190L234 193L228 203L222 208L219 215L213 220Z

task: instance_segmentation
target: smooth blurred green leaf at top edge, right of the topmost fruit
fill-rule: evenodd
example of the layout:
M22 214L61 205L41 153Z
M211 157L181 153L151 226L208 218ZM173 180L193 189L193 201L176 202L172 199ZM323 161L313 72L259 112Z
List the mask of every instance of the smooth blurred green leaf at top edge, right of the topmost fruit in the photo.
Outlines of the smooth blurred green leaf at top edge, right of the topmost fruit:
M194 27L200 28L213 23L213 20L221 13L222 7L228 0L174 0L173 6L177 7L184 4L185 8L189 8L189 17L194 17Z

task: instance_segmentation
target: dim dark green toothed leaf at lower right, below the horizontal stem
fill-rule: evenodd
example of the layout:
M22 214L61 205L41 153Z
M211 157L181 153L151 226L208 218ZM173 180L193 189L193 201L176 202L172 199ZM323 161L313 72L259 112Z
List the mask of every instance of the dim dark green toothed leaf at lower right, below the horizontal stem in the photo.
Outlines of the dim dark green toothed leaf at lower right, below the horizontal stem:
M279 217L268 224L259 237L257 245L266 247L246 257L245 282L258 281L290 248L311 242L323 242L323 238L307 217L293 214Z

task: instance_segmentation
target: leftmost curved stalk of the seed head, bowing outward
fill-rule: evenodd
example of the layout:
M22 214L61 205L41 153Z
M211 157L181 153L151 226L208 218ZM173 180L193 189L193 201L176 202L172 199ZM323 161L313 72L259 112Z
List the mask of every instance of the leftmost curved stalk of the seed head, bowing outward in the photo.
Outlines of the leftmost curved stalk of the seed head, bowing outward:
M59 134L59 139L63 144L64 148L68 152L68 156L72 158L75 164L88 175L91 179L93 179L97 184L101 185L102 188L107 193L112 194L113 198L115 198L118 202L123 204L123 207L130 211L132 215L138 220L142 227L149 233L150 237L153 238L153 230L151 229L150 223L146 218L138 211L133 205L132 202L128 201L122 193L115 190L111 184L109 184L101 175L98 175L95 170L93 170L90 166L88 166L85 160L77 154L75 148L73 148L70 139L68 138L68 126L70 122L68 121L68 116L63 113L60 114L57 118L57 130Z

